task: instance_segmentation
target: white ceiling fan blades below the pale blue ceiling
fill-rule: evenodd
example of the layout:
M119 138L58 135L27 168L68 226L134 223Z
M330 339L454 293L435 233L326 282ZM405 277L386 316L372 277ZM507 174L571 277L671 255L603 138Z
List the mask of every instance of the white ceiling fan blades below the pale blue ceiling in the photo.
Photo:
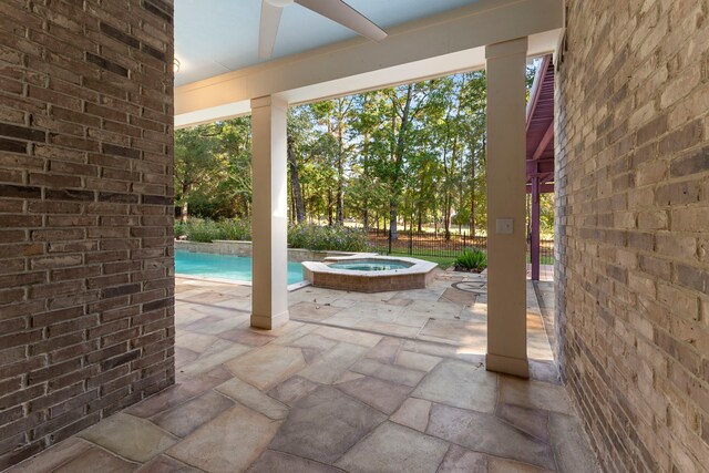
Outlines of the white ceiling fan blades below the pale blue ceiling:
M278 23L284 8L298 3L301 7L312 10L316 13L329 18L330 20L349 28L362 37L373 41L381 41L387 38L387 32L368 20L359 11L354 10L342 0L263 0L261 1L261 24L258 37L258 55L270 58L276 43Z

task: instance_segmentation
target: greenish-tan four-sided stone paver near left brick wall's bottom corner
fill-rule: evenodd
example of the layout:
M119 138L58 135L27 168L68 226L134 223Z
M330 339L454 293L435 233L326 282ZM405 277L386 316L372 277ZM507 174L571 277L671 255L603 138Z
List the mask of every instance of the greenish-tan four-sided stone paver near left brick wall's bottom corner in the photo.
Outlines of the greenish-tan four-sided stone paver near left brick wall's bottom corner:
M81 436L134 462L146 462L178 441L152 422L125 413L99 422Z

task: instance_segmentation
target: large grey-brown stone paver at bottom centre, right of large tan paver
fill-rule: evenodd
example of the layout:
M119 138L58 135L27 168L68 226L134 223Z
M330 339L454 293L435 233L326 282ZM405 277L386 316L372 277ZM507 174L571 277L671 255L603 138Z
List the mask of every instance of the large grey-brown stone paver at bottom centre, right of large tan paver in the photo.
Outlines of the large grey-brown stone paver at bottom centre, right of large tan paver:
M386 419L369 405L322 385L291 408L270 449L332 464Z

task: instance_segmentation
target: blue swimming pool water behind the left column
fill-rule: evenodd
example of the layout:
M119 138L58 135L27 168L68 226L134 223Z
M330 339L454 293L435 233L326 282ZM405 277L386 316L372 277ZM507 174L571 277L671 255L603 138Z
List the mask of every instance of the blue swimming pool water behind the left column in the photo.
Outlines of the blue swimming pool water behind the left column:
M175 273L205 278L250 281L251 258L177 249L175 250ZM288 263L288 284L300 282L302 279L302 265Z

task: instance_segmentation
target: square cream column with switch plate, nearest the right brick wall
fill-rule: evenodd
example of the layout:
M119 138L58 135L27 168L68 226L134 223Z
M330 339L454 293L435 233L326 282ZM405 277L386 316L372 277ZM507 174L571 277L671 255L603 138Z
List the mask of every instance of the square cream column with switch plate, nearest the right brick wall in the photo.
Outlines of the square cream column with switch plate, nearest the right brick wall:
M527 39L485 48L487 370L528 377L525 243Z

